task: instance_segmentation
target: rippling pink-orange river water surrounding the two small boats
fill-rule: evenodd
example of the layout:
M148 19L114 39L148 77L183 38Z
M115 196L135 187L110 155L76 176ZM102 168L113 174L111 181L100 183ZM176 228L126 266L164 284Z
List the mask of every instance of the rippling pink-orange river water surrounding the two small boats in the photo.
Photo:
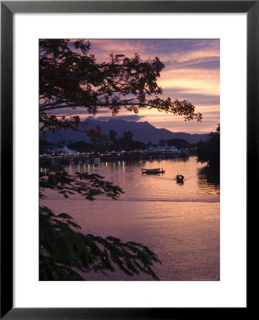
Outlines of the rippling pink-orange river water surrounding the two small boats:
M196 164L196 158L160 161L116 161L97 166L66 166L76 171L100 174L120 186L124 194L117 201L98 198L86 201L73 196L64 199L55 193L41 201L54 213L68 213L81 226L82 233L123 241L140 242L153 250L162 261L154 272L160 280L219 280L220 232L219 185ZM163 168L163 175L142 174L141 168ZM186 178L176 183L176 174ZM152 280L147 274L128 277L120 270L109 276L83 274L87 280Z

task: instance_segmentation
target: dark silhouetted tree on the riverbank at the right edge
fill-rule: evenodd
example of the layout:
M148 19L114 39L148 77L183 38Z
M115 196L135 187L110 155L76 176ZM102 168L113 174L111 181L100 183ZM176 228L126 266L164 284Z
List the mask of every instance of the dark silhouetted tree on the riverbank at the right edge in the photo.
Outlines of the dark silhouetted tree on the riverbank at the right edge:
M220 166L220 125L216 132L211 132L208 141L197 144L197 161L219 169Z

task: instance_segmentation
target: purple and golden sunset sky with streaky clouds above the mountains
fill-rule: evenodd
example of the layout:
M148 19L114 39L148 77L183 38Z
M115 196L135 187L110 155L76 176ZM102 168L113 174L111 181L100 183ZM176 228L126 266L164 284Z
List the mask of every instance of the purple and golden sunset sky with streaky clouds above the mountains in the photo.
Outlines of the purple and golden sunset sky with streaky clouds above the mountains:
M196 112L203 114L202 122L184 121L183 117L156 110L141 110L139 114L121 111L119 117L130 121L147 121L157 128L171 132L207 133L216 131L220 110L220 41L219 39L88 39L90 53L98 61L108 61L109 54L134 53L142 60L159 57L164 63L158 85L163 98L189 100ZM83 114L80 114L83 118ZM86 117L86 116L85 116ZM107 120L108 110L96 118Z

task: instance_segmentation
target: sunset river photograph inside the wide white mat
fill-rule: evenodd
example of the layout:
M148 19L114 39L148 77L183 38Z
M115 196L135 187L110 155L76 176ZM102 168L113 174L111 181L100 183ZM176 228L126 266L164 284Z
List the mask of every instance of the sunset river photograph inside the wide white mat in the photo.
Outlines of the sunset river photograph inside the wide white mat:
M220 39L38 50L38 280L220 281Z

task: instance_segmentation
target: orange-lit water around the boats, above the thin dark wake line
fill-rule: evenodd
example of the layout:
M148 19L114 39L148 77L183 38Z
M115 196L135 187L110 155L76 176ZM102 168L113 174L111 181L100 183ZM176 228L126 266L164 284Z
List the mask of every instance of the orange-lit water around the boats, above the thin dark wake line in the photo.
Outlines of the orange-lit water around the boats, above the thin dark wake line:
M160 168L164 174L142 174L141 169ZM195 156L185 159L113 161L65 167L69 174L76 171L100 174L105 180L120 186L125 194L120 200L160 199L166 201L219 201L219 172L196 164ZM41 171L46 168L41 168ZM176 175L184 176L184 183L176 183Z

